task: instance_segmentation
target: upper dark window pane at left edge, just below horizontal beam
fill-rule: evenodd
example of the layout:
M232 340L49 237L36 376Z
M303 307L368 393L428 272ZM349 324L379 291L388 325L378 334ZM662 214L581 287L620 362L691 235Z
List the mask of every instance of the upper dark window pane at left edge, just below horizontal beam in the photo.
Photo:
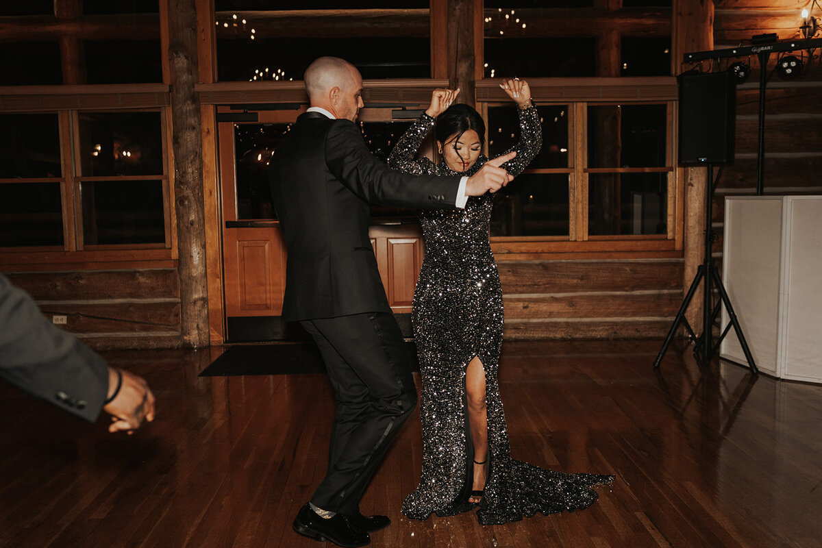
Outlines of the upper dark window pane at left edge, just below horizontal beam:
M0 114L0 178L61 174L57 114Z

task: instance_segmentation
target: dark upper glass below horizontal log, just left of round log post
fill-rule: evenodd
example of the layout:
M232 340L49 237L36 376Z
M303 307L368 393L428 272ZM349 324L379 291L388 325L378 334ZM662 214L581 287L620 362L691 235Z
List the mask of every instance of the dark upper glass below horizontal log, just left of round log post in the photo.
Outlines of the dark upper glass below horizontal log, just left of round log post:
M89 84L140 84L163 81L157 40L85 42Z

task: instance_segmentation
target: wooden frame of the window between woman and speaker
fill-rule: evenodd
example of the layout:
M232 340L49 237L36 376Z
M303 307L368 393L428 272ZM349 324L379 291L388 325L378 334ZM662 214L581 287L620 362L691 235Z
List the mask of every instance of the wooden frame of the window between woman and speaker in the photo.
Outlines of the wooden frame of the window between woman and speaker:
M477 82L478 110L488 120L489 107L511 105L499 90L498 78ZM609 256L681 256L685 196L683 170L677 168L677 81L674 77L529 78L538 106L568 105L571 168L526 169L524 173L569 174L569 236L492 236L498 260L561 259ZM590 104L667 104L664 168L588 168L588 106ZM513 108L513 106L512 106ZM487 144L486 144L487 153ZM667 233L597 235L588 233L589 174L667 172Z

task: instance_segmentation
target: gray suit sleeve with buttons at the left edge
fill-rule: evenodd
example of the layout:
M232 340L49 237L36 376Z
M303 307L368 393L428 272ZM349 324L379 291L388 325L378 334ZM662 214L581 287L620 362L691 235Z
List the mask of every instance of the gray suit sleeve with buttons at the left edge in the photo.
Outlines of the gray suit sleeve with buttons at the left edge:
M50 324L31 297L0 274L0 378L86 421L109 390L109 366Z

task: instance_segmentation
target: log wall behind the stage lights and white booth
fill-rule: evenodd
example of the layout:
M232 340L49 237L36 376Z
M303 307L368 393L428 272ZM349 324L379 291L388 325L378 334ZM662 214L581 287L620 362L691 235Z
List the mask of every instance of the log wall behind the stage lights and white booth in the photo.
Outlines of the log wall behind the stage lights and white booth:
M800 38L801 0L715 0L713 41L716 48L736 46L753 35L777 33L779 39ZM815 16L820 13L815 12ZM783 81L773 72L777 55L768 63L765 92L764 194L822 194L822 69L819 53L807 61L799 78ZM797 54L797 57L799 55ZM748 59L741 59L748 62ZM750 59L751 75L737 86L735 159L725 166L713 200L713 257L722 263L724 200L755 196L759 145L760 67Z

